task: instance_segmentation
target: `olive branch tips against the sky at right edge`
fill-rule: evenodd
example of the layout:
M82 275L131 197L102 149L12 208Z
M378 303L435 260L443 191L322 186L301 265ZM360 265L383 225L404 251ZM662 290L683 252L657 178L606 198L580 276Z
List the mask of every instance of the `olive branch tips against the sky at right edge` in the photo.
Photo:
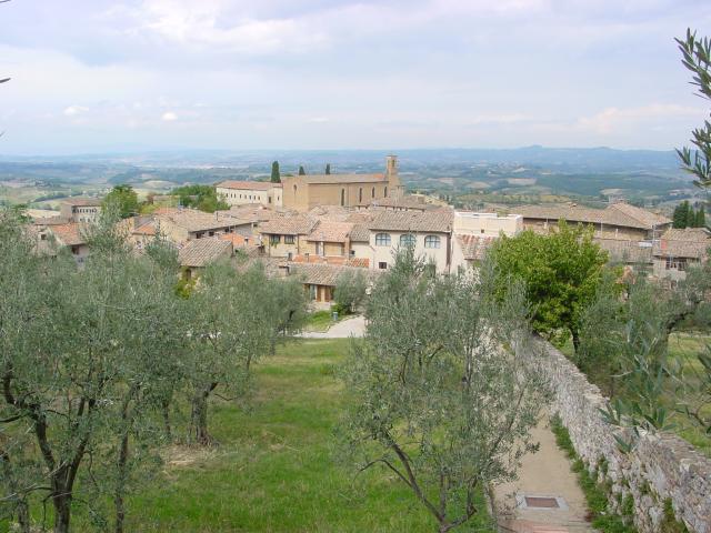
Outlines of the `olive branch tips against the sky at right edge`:
M691 84L697 88L697 94L711 100L711 39L697 38L697 32L687 30L684 39L675 39L682 54L683 66L691 71ZM711 187L711 122L708 120L701 128L692 131L689 148L677 150L684 170L695 177L697 187Z

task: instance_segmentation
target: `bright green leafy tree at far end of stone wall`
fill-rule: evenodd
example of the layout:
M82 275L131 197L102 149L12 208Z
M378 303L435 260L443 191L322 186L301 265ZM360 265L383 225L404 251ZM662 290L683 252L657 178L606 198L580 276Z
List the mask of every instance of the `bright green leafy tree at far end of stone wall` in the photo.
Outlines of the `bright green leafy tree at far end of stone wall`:
M490 251L500 298L511 278L521 280L533 309L533 329L549 339L570 334L575 352L581 313L593 301L608 261L592 235L592 228L560 221L557 231L545 235L523 231L502 237Z

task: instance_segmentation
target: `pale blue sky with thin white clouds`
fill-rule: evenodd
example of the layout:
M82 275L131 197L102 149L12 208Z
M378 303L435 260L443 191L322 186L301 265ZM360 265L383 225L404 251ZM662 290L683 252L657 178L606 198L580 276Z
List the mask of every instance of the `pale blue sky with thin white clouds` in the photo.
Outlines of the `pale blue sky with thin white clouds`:
M11 0L0 154L688 142L708 0Z

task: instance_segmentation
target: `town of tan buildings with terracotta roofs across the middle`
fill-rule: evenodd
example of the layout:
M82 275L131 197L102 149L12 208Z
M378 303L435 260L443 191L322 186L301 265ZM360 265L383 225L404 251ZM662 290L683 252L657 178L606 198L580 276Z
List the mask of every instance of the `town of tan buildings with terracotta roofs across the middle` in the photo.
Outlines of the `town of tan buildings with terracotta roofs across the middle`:
M669 218L621 200L605 209L537 204L502 214L455 210L433 197L408 194L405 188L397 155L389 155L383 173L223 181L214 189L229 209L206 213L159 207L149 215L127 218L121 228L137 250L164 237L180 250L187 279L239 254L268 263L274 275L298 273L311 300L322 304L331 302L342 271L382 272L399 248L413 247L440 273L455 272L480 263L501 235L547 233L560 220L590 227L612 260L648 266L654 278L670 282L684 279L688 265L705 261L711 245L707 228L673 229ZM100 198L64 200L59 215L33 219L38 239L53 238L81 263L90 253L82 228L98 221L101 205Z

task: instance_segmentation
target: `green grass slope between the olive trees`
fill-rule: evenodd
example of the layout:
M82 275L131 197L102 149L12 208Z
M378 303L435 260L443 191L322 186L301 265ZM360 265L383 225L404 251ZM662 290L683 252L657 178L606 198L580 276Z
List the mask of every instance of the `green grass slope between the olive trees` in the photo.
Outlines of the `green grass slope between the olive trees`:
M216 402L210 426L220 445L171 450L158 477L129 497L126 531L437 531L393 476L354 482L336 461L332 430L347 400L334 370L348 342L293 341L263 359L251 412ZM86 531L81 511L74 517L73 531ZM488 521L457 531L493 531Z

